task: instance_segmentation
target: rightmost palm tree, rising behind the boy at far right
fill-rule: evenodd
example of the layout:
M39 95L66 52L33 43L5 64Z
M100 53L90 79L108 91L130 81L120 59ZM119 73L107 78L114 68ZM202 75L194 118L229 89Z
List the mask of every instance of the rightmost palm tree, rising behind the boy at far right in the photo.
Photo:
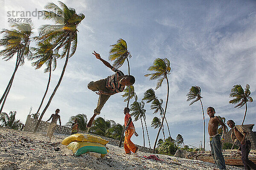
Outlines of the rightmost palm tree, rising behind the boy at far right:
M233 97L235 99L232 99L229 101L229 103L237 104L235 108L241 108L243 105L245 105L245 112L244 112L244 119L247 112L247 102L253 102L253 98L250 96L250 85L246 84L246 88L243 89L241 85L234 85L231 89L230 97ZM242 122L242 125L244 124L244 119Z

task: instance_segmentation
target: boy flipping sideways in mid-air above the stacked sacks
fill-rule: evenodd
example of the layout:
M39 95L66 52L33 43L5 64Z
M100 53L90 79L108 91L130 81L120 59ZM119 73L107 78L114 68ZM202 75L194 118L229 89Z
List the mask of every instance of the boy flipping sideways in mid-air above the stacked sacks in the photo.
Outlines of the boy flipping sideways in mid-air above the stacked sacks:
M115 74L96 82L90 82L87 85L91 91L96 91L96 94L99 95L97 107L94 109L94 114L90 118L90 121L87 123L87 127L92 126L94 118L96 115L100 114L102 107L111 95L124 91L126 85L133 85L135 82L135 78L133 76L123 74L122 71L114 68L109 62L102 59L98 53L95 51L93 52L93 55L95 55L96 59L102 61L103 64L114 71Z

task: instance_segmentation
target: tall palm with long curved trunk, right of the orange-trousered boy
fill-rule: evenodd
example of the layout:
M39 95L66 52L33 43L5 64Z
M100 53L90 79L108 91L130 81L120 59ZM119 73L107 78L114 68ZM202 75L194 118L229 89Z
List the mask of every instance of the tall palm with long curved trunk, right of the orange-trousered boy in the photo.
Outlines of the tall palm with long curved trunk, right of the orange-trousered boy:
M168 81L168 77L167 77L170 74L170 71L171 71L169 59L167 59L167 58L164 58L164 59L157 58L157 59L155 59L153 65L148 68L148 71L156 71L155 73L144 75L145 77L150 77L149 78L150 80L158 79L156 89L161 87L164 79L166 79L166 82L167 82L167 98L166 98L165 110L164 110L164 113L163 113L163 120L164 120L165 115L166 115L168 99L169 99L169 81ZM160 128L157 132L157 137L156 137L156 140L155 140L155 143L154 143L153 153L155 153L157 139L158 139L160 130L163 126L163 120L162 120L161 126L160 126Z

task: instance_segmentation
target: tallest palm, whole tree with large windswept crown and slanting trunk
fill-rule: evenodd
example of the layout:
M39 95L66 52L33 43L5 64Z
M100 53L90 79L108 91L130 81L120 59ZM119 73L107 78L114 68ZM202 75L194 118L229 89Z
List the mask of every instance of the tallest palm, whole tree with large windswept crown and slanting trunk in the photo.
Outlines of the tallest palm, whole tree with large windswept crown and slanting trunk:
M40 40L44 43L52 42L54 46L55 53L58 53L59 49L62 49L61 58L66 56L65 64L63 66L61 76L59 81L52 92L52 95L47 102L41 116L35 126L34 133L38 129L41 119L44 116L47 108L49 107L53 96L55 95L61 80L63 78L65 69L67 67L67 62L70 57L72 57L76 52L77 47L77 27L84 19L84 14L76 14L74 8L68 8L64 3L59 1L61 8L59 8L54 3L48 3L45 8L48 11L42 11L45 20L52 20L56 25L43 25L40 28ZM70 53L71 50L71 53Z

